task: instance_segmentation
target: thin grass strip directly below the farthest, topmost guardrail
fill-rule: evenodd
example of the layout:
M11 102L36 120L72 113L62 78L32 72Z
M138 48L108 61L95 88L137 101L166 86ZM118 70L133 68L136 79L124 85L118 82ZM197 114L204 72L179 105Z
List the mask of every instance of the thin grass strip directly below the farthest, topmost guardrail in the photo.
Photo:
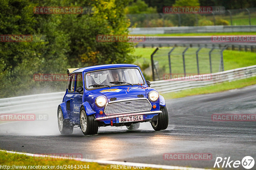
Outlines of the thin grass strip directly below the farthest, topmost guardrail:
M256 35L256 32L210 32L210 33L173 33L173 34L145 34L147 36L212 36L212 35Z

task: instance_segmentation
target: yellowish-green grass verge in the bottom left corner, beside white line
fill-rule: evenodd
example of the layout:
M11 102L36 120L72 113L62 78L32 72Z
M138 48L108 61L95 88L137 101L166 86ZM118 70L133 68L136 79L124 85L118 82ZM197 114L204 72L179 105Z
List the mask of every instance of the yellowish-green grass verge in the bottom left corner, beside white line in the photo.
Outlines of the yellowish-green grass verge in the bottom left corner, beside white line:
M98 163L94 163L94 162L82 162L82 161L76 161L76 160L70 160L70 159L53 159L53 158L43 158L43 157L32 157L32 156L26 156L26 155L22 155L22 154L14 154L14 153L6 153L6 152L1 152L0 151L0 163L1 165L6 165L6 166L10 166L10 169L12 168L13 165L16 166L27 166L27 169L32 169L32 168L28 168L28 166L52 166L52 168L50 169L62 169L62 168L56 168L58 165L59 166L63 166L63 165L67 165L66 169L88 169L89 170L93 170L93 169L99 169L99 170L108 170L110 169L110 165L100 165ZM67 168L71 165L75 166L76 168ZM83 168L78 168L83 166ZM53 168L53 166L55 166L55 168ZM84 168L84 166L86 168ZM5 168L7 169L7 168ZM14 168L17 170L23 170L25 169L23 168ZM33 169L44 169L44 168L33 168ZM65 169L65 167L64 167ZM122 168L121 168L122 169ZM134 168L131 168L134 169ZM153 170L156 168L147 168L145 167L145 169L147 170ZM123 170L123 169L122 169Z

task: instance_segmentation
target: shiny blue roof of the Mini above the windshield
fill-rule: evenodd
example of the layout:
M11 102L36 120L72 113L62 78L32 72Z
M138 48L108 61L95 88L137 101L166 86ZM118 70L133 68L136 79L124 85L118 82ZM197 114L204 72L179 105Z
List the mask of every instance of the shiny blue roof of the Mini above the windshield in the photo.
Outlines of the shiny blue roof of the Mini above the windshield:
M79 68L72 73L81 73L93 70L100 70L100 69L108 69L108 68L118 68L118 67L138 67L135 64L105 64L105 65L98 65L98 66L90 66L90 67L83 67Z

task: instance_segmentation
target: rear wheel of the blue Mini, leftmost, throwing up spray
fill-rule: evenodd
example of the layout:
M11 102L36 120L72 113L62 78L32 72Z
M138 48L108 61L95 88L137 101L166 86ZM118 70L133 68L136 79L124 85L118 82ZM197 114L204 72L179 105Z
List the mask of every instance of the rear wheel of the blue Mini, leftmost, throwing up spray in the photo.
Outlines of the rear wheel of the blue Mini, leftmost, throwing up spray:
M63 113L61 107L58 108L58 126L60 134L71 135L73 133L73 126L70 124L69 119L63 118Z

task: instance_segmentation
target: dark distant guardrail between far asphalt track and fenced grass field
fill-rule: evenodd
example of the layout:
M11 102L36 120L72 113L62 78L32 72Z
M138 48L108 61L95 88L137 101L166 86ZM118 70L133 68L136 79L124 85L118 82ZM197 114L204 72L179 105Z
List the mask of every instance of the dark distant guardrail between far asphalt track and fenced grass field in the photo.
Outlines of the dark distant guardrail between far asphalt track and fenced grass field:
M182 46L182 47L204 47L204 48L219 48L222 49L227 47L227 50L243 50L243 51L251 51L256 52L255 45L238 45L238 44L176 44L176 43L144 43L144 44L136 44L135 47L173 47L173 46Z

